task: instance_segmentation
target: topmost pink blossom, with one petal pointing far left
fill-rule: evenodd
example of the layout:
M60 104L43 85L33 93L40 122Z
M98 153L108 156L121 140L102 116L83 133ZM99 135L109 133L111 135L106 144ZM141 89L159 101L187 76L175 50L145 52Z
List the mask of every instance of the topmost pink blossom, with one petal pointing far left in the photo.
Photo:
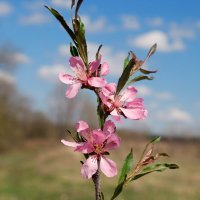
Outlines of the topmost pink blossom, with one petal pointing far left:
M77 95L78 90L81 86L84 87L104 87L106 81L104 78L99 77L105 76L109 72L109 66L106 62L101 65L100 74L98 74L99 66L101 62L101 56L96 61L89 64L86 69L83 61L79 57L71 57L69 63L71 69L74 71L75 76L71 76L67 73L60 73L59 79L61 82L70 85L66 91L67 98L73 98Z

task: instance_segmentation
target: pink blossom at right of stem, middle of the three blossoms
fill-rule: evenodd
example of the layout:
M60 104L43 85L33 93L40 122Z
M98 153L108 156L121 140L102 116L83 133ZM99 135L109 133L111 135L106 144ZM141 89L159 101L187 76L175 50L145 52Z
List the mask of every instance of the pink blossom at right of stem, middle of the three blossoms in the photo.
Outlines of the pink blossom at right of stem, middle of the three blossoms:
M134 120L145 119L147 110L144 108L143 99L136 98L136 94L137 90L129 86L121 94L116 95L116 85L110 83L102 88L100 97L116 121L120 121L120 115Z

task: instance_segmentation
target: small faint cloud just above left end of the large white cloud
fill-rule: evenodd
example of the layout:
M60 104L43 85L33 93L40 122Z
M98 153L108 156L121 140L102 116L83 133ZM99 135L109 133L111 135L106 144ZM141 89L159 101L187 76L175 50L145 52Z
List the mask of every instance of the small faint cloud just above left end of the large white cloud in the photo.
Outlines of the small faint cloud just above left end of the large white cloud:
M140 28L140 23L136 16L132 15L123 15L121 17L123 27L128 30L137 30Z

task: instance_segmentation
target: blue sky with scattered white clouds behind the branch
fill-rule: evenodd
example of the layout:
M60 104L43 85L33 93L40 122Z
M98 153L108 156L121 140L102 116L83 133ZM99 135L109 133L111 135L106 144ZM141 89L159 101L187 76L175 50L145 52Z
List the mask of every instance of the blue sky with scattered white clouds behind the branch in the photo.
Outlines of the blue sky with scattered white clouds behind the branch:
M12 45L15 73L0 68L0 78L31 96L34 107L46 109L57 74L66 71L70 40L43 7L59 10L69 21L70 0L0 1L0 46ZM90 59L99 44L109 62L108 81L116 81L124 57L133 50L145 58L155 42L158 50L145 67L158 69L156 79L136 85L149 117L124 125L154 132L200 134L200 2L102 0L84 2L80 15L86 25Z

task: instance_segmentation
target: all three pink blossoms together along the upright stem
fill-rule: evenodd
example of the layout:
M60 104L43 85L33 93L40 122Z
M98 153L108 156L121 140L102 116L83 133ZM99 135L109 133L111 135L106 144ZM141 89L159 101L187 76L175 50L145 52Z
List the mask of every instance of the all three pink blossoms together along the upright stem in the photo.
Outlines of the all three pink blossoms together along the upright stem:
M114 120L120 121L120 116L133 120L146 118L147 110L144 108L143 99L136 98L137 90L133 86L129 86L117 94L116 85L114 83L107 84L106 80L102 78L109 73L109 66L106 62L101 64L101 56L91 62L88 67L79 57L71 57L69 63L75 75L59 74L60 81L69 85L66 91L67 98L75 97L81 87L92 89L101 99L104 112L111 115ZM82 176L89 179L97 172L98 168L107 177L115 176L117 174L115 162L105 157L109 150L120 145L120 138L115 133L115 124L108 120L105 122L103 130L90 130L86 122L79 121L76 129L83 138L83 142L62 140L62 143L73 147L75 151L87 154L88 158L81 169ZM99 166L98 163L100 163Z

